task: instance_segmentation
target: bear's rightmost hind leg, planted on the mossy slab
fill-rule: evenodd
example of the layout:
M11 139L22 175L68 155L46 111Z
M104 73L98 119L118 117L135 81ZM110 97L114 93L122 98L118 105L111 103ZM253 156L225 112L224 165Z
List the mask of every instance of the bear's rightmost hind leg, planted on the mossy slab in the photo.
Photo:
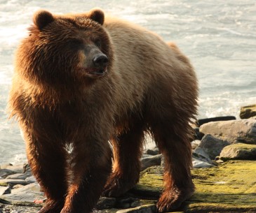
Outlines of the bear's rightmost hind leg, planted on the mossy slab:
M191 144L188 122L155 122L151 131L164 156L165 187L157 207L159 212L175 210L194 193L191 180Z

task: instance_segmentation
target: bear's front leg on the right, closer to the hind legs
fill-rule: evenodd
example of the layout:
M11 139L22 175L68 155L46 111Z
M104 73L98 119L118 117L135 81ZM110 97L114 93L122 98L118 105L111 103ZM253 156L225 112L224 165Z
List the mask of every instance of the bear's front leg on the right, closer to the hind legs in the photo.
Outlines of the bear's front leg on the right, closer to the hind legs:
M73 181L61 213L89 213L97 204L111 172L112 154L107 140L76 141L72 151Z

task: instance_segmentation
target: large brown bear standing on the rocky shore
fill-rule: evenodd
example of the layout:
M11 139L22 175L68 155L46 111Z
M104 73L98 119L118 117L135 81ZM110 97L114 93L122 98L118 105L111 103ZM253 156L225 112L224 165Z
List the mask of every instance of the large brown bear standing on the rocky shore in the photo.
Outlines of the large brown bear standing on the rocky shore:
M15 56L9 105L47 196L40 212L91 212L101 195L131 189L145 132L165 159L158 210L179 207L194 192L197 97L187 57L151 31L100 9L35 13Z

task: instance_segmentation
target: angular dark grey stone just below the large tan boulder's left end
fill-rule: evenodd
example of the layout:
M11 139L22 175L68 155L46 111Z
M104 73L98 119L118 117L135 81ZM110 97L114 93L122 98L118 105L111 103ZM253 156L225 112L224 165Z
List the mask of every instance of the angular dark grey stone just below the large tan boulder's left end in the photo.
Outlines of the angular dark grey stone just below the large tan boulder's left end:
M209 156L210 159L215 159L215 157L220 155L222 149L227 145L229 145L229 142L227 141L215 138L213 135L205 135L194 152L198 152L198 149L201 148L207 154L207 158ZM202 155L205 156L205 154Z

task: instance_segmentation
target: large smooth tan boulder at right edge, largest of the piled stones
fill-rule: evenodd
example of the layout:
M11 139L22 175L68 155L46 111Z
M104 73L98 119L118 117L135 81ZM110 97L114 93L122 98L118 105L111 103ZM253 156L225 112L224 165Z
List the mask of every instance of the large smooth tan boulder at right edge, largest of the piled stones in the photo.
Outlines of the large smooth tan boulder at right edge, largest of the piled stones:
M256 145L256 120L242 119L227 122L210 122L200 127L202 133L227 141L229 144L238 142Z

